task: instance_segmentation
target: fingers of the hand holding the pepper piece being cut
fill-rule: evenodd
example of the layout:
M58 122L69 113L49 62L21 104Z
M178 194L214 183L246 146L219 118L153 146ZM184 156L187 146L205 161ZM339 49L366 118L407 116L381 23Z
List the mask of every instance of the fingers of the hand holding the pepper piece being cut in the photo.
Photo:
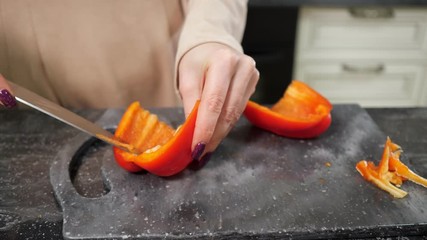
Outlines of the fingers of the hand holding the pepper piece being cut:
M208 156L242 115L259 79L252 58L245 55L226 57L225 53L220 55L221 61L213 62L206 72L193 137L196 148L200 143L206 144L203 152Z

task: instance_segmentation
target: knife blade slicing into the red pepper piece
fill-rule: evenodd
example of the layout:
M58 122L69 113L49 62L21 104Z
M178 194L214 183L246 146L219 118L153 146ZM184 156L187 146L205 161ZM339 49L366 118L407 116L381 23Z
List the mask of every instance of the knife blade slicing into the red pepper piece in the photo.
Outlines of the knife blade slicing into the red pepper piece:
M121 142L112 133L96 125L95 123L90 122L76 113L63 108L58 104L49 101L46 98L43 98L24 87L19 86L16 83L10 81L7 81L7 83L12 88L12 92L15 98L19 102L37 109L108 144L114 145L122 150L138 154L135 147Z

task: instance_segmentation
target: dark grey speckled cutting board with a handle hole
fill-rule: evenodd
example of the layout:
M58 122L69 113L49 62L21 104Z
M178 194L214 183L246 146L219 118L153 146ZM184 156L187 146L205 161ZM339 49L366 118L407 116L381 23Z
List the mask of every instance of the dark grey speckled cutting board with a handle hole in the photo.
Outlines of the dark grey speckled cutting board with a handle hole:
M122 111L99 124L114 128ZM155 111L177 126L178 109ZM50 179L64 215L65 238L364 238L427 234L427 189L404 183L404 199L362 179L361 159L381 158L386 135L358 105L336 105L316 139L279 137L245 118L199 171L170 178L133 174L97 150L109 192L79 195L70 169L94 139L76 136L58 153ZM405 157L403 156L403 161ZM405 161L407 162L407 161Z

